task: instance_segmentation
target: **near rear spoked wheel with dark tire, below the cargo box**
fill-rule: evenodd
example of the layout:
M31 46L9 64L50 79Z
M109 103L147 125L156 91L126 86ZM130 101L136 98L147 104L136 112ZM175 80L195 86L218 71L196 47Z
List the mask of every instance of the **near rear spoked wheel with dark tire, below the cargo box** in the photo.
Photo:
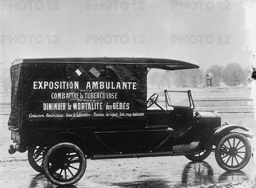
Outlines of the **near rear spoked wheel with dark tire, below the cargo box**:
M47 151L43 169L46 178L54 185L72 185L83 177L86 159L77 145L63 142Z

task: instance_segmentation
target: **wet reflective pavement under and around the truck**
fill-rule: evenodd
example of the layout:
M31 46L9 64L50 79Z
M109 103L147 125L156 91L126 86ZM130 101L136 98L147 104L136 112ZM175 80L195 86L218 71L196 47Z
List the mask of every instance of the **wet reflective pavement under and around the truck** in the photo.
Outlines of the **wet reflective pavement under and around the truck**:
M8 117L8 116L7 116ZM1 118L1 137L9 136L7 117ZM221 114L223 121L245 125L254 138L249 139L255 149L255 119L253 113ZM34 171L27 160L27 152L9 155L9 142L1 141L1 187L52 188L43 174ZM253 152L255 156L255 151ZM256 161L251 157L241 171L227 172L220 168L214 153L202 162L190 162L184 156L145 157L134 159L87 160L84 176L70 187L210 187L247 188L256 186Z

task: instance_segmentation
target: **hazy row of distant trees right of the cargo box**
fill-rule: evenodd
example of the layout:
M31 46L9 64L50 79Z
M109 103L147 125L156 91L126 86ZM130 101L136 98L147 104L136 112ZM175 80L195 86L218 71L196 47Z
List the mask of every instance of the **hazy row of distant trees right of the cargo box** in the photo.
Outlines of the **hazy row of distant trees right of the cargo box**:
M206 87L206 75L214 75L215 86L224 82L228 86L239 84L247 85L250 68L241 68L238 63L230 63L227 67L215 64L207 71L202 69L183 69L174 71L154 72L151 74L148 84L154 88L181 88L181 87Z

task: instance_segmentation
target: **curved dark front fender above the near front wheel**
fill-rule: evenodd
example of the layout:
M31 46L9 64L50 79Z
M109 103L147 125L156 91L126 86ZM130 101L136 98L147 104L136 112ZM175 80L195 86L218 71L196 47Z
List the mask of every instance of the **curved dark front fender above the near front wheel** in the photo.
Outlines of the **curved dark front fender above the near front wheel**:
M212 140L216 143L218 142L218 140L220 140L222 137L226 136L230 131L234 130L234 129L242 129L244 131L249 131L247 128L244 128L242 126L239 125L222 125L221 127L215 128L215 132L213 134ZM243 134L246 137L248 134Z

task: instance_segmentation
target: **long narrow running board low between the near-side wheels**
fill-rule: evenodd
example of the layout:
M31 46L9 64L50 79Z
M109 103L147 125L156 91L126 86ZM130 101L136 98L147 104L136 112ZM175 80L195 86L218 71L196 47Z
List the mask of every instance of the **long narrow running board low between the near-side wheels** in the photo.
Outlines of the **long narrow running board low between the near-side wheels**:
M157 153L137 153L137 154L109 154L109 155L93 155L91 160L97 159L121 159L121 158L134 158L134 157L160 157L160 156L172 156L172 151L157 152Z

